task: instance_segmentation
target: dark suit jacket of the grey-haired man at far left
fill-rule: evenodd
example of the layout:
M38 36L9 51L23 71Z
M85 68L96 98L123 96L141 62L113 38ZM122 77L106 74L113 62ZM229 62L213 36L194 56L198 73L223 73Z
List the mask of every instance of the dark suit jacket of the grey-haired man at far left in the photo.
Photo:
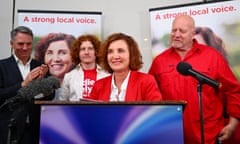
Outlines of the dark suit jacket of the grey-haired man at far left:
M40 66L41 63L32 60L30 63L30 69L34 69L37 66ZM6 99L14 97L17 95L17 91L21 88L21 82L23 81L21 72L17 66L14 56L0 60L0 105L2 105ZM23 110L19 109L22 108ZM33 103L23 103L19 104L17 107L13 107L13 110L9 110L9 106L5 106L0 109L0 141L6 141L8 127L7 123L10 118L13 117L13 114L16 110L18 114L18 123L17 129L18 134L21 135L21 128L25 127L26 117L29 116L29 125L33 133L38 132L39 127L39 107L33 105ZM15 112L16 114L16 112ZM20 137L19 135L19 137ZM36 133L38 135L38 133ZM3 141L2 141L3 140Z

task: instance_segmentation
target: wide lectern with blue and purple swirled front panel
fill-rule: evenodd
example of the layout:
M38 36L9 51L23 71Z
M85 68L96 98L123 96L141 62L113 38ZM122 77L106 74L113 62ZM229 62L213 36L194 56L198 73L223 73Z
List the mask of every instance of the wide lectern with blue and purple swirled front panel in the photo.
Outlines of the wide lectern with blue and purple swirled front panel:
M184 143L184 101L35 103L40 144Z

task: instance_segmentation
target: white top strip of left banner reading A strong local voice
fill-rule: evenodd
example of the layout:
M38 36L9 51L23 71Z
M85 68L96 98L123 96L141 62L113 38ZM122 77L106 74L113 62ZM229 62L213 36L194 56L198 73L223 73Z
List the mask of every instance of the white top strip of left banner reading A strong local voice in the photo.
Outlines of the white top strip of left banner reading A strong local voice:
M18 10L18 25L33 30L35 46L49 33L66 33L76 38L82 34L94 34L101 40L101 19L101 12Z

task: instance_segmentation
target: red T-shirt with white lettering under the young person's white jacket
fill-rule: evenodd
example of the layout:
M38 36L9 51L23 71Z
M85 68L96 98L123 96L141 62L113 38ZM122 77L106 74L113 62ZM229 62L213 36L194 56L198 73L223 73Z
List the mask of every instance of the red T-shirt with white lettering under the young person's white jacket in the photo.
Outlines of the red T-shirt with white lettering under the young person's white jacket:
M84 70L84 80L83 80L83 98L88 98L92 91L93 85L97 79L97 71L93 70Z

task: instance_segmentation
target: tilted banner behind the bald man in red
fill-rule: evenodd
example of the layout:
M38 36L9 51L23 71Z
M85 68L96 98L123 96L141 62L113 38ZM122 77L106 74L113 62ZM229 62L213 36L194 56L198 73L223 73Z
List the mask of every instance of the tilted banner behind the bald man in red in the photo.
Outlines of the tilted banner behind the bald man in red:
M240 1L193 3L152 8L149 12L153 58L169 47L173 19L188 14L195 20L197 33L206 34L209 41L205 43L223 54L240 80ZM211 42L213 37L215 41ZM197 40L202 42L204 37Z

